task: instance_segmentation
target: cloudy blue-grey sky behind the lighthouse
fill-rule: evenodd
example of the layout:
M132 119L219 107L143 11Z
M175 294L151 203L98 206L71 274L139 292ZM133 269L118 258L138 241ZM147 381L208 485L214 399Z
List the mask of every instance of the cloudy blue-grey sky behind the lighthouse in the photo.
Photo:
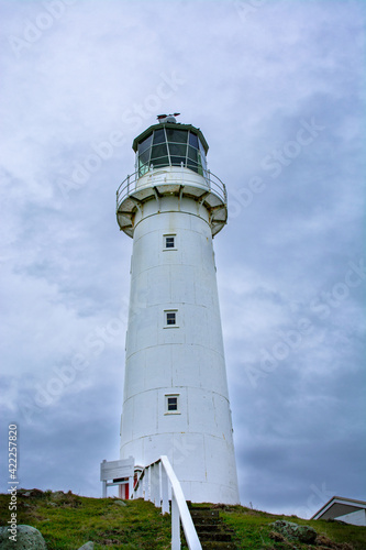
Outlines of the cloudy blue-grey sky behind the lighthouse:
M214 249L242 504L365 499L365 2L0 8L0 491L10 422L21 486L100 496L118 459L115 190L133 139L178 111L229 191Z

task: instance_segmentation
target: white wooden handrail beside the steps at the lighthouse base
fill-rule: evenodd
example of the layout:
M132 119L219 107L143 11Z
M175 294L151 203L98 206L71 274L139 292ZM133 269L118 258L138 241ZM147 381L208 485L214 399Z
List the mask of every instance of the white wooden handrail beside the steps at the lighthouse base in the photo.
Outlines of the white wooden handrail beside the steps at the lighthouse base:
M171 494L171 550L180 550L180 522L189 550L202 550L179 480L168 458L162 455L142 471L131 497L151 501L166 514L169 513L169 494Z

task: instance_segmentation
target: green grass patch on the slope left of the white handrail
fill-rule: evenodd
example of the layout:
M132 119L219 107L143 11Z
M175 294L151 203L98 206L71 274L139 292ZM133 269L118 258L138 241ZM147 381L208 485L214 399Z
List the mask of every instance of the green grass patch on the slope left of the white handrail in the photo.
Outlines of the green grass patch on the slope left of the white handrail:
M0 495L0 519L9 520L9 496ZM37 497L18 495L18 524L36 527L47 550L76 550L88 540L96 549L168 549L170 517L144 501L126 506L113 498L87 498L51 492Z

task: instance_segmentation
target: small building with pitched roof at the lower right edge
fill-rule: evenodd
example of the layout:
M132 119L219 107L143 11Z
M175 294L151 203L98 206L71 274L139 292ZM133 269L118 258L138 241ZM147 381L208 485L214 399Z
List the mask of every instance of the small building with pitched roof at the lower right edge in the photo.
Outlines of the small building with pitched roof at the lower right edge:
M345 524L366 526L366 502L333 496L311 519L339 519Z

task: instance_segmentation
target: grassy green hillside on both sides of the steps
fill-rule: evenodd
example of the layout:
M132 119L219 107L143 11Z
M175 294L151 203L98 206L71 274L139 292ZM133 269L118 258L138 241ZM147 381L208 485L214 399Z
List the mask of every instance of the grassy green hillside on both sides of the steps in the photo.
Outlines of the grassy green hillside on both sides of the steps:
M162 516L153 504L115 498L87 498L69 493L33 490L18 495L18 524L36 527L48 550L76 550L88 540L96 549L169 549L170 516ZM217 506L232 530L237 549L365 550L366 527L335 521L302 520L295 516L275 516L242 506ZM10 519L9 495L0 495L0 524ZM312 526L318 543L300 544L276 540L270 524L287 519ZM182 544L182 548L187 548Z

